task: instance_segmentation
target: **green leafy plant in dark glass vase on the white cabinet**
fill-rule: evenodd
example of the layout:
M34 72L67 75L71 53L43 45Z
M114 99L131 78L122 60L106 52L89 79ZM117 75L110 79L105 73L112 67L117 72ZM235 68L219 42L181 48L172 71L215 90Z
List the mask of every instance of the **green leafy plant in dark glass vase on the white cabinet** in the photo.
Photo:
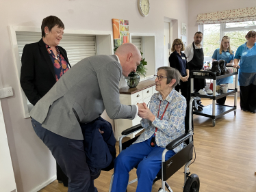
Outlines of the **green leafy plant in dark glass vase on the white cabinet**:
M114 49L114 52L116 51L118 47L116 46ZM140 51L140 54L143 55L143 53ZM140 60L140 65L137 66L136 72L130 72L128 74L128 77L125 77L125 81L127 85L130 88L135 88L140 83L140 76L146 77L146 65L147 61L145 61L145 58L142 58Z

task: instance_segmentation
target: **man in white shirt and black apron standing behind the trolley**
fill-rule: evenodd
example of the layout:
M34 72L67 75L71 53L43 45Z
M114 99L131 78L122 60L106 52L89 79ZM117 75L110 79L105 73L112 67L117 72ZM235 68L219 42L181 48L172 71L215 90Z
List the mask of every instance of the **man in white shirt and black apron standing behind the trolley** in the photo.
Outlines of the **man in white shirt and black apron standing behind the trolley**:
M187 56L189 70L201 70L203 69L203 46L201 44L203 40L203 33L200 31L194 34L194 42L185 47L185 55ZM205 87L205 79L194 78L194 92Z

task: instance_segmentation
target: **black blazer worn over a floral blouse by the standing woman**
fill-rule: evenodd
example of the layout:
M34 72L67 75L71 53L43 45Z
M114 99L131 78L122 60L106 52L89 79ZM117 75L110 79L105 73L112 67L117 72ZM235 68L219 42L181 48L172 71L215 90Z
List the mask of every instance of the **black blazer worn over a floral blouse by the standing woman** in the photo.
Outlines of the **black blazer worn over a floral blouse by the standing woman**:
M57 47L68 62L66 50L61 46ZM42 39L24 46L21 64L21 87L29 102L36 105L56 83L53 62ZM69 62L68 65L70 66Z

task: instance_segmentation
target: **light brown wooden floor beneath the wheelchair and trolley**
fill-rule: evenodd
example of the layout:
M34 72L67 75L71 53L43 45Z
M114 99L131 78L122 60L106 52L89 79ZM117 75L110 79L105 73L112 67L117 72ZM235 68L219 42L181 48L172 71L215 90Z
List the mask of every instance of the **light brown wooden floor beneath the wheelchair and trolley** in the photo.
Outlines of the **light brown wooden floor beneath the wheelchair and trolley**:
M227 98L226 105L233 105L233 97ZM238 99L238 105L239 105ZM202 100L203 105L212 100ZM216 120L194 115L194 147L196 161L190 165L191 174L200 178L200 191L256 191L256 114L241 111L238 106L234 116L233 111ZM116 145L118 151L118 145ZM110 172L101 172L94 184L99 192L108 191ZM136 170L131 170L130 180L136 178ZM168 184L174 192L183 191L183 168L168 179ZM137 182L128 186L129 192L136 191ZM161 182L153 185L152 191L157 191ZM66 192L68 188L55 180L40 192Z

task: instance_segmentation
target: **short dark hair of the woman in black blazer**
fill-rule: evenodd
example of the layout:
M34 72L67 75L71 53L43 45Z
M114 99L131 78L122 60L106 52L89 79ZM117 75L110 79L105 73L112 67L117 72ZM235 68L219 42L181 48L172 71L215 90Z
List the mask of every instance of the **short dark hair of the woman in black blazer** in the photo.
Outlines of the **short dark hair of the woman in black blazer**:
M60 20L60 18L57 18L57 16L47 16L46 18L44 18L42 20L42 25L41 25L41 31L42 31L42 38L45 37L45 33L44 33L44 27L48 27L49 32L51 32L51 29L53 29L53 27L55 27L55 25L57 25L57 27L59 28L63 28L64 24L62 23L62 20Z

